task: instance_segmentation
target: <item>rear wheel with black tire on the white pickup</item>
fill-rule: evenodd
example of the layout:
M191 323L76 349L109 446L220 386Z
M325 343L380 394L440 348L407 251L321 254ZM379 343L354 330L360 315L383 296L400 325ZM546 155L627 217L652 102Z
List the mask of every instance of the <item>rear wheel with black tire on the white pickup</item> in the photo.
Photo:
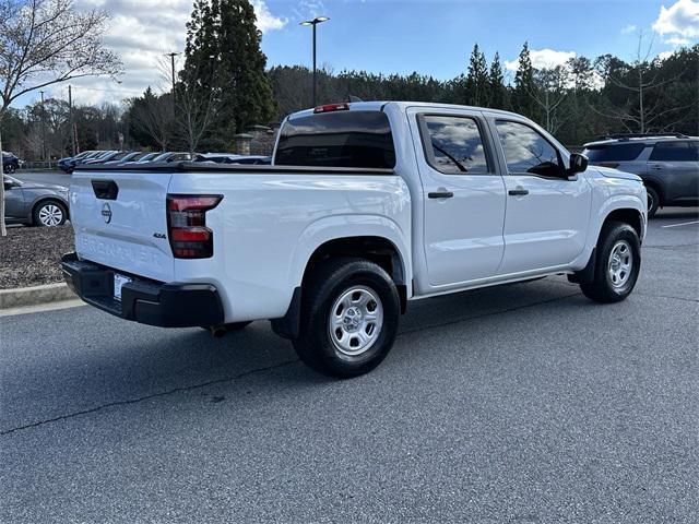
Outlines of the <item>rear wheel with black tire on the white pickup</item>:
M351 291L357 290L357 295ZM350 325L348 330L356 330L353 333L343 332L344 325L337 327L334 333L344 333L342 341L345 344L359 341L359 337L368 338L366 349L358 347L357 354L353 349L341 349L335 342L330 329L330 315L333 306L337 300L346 297L352 302L356 297L362 300L368 298L366 307L350 306L344 308L339 305L336 311L340 319L341 313L345 313L343 322L354 310L357 314L358 325ZM375 301L372 298L378 298ZM359 300L359 298L357 298ZM357 301L357 303L359 303ZM300 319L299 336L294 342L294 348L298 357L311 369L329 377L353 378L368 373L376 368L391 350L395 334L398 333L401 305L395 288L395 284L379 265L362 259L343 258L329 261L316 267L308 277L303 289L303 310ZM359 309L357 309L359 308ZM364 308L364 313L362 309ZM374 308L374 309L371 309ZM353 311L350 311L353 310ZM376 313L377 318L382 314L380 327L377 323L371 325L364 315ZM366 325L365 325L366 324ZM364 334L359 335L364 331ZM345 338L345 335L347 338ZM362 342L357 343L363 344Z

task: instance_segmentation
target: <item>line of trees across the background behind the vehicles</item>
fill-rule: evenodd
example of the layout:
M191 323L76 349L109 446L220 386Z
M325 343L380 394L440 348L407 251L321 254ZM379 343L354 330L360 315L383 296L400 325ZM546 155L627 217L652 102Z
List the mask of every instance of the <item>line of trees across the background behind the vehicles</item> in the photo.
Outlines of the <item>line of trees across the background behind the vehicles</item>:
M118 105L78 106L74 127L66 100L5 106L5 148L38 159L46 144L47 156L63 156L72 129L81 150L230 150L247 127L279 122L310 105L311 71L268 69L261 38L248 0L197 0L174 87L169 62L154 64L168 88L147 87ZM512 110L569 145L608 133L699 134L699 45L662 58L653 58L642 39L638 49L628 61L604 55L535 68L524 43L513 78L497 52L488 61L477 44L464 57L463 73L450 80L325 67L318 72L318 103L415 100Z

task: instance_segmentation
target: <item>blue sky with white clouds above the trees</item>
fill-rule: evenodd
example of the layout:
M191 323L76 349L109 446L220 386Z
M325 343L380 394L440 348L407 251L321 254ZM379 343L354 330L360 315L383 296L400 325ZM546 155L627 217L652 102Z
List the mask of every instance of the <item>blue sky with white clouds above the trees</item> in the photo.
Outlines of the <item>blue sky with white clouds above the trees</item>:
M318 27L318 61L335 72L418 71L437 79L464 72L477 43L488 61L495 51L516 66L524 40L534 66L557 64L571 56L613 53L631 60L639 34L653 55L699 41L699 0L250 0L263 32L268 64L311 63L311 32L299 22L330 16ZM119 102L149 85L168 88L163 55L181 51L192 0L75 0L78 9L110 11L105 44L125 63L111 79L73 81L76 104ZM166 67L166 73L169 67ZM67 98L66 84L49 96ZM38 93L19 99L23 106Z

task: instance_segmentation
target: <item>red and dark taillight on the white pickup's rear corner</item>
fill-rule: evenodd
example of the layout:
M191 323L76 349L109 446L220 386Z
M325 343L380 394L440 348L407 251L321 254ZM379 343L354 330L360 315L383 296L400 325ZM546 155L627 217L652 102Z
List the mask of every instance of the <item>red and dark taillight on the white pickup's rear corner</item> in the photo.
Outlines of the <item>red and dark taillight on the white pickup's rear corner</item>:
M214 234L206 227L206 212L223 199L220 194L168 194L167 226L176 259L208 259L214 254Z

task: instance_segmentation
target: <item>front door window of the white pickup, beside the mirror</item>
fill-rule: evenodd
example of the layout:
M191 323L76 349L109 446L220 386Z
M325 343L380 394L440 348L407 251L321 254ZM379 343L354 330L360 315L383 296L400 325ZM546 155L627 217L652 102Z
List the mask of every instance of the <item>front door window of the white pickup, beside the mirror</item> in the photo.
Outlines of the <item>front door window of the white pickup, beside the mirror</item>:
M558 150L537 131L519 122L497 120L507 169L510 174L561 177L564 168Z

